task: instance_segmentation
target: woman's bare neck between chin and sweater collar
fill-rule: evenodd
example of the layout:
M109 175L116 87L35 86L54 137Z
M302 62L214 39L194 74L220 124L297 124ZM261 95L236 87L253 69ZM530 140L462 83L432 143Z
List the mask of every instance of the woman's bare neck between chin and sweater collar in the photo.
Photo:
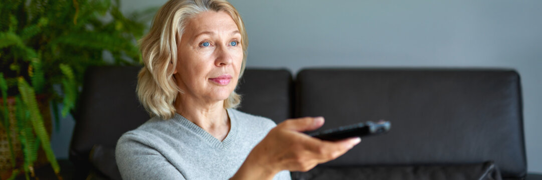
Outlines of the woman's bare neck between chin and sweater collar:
M230 129L228 112L223 107L224 101L201 102L190 96L178 95L175 109L192 123L223 140Z

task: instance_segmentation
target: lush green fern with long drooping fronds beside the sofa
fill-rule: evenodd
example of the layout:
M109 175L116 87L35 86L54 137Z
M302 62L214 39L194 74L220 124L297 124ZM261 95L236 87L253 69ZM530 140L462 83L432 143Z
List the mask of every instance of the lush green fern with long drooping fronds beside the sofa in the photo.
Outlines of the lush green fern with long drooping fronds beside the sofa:
M59 125L57 105L62 116L75 110L88 66L140 64L135 39L156 8L125 16L119 5L119 0L0 0L0 126L8 135L12 178L19 172L34 176L40 147L59 176L36 96L51 102ZM8 103L10 97L15 105ZM16 163L12 131L22 163Z

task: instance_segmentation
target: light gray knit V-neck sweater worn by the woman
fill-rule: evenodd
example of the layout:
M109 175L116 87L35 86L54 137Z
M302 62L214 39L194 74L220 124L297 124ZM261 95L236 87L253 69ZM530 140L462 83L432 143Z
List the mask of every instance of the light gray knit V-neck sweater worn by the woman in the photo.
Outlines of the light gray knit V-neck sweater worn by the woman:
M221 142L179 114L157 117L120 137L115 158L123 179L229 179L275 123L228 109L230 131ZM281 171L274 179L291 179Z

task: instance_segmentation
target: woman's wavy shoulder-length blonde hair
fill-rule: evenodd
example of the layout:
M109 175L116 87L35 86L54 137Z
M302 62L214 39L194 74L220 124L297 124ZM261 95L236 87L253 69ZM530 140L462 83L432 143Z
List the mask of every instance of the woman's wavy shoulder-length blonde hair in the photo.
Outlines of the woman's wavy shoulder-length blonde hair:
M178 94L183 94L173 79L173 70L177 66L177 41L182 41L188 20L201 12L227 12L241 33L243 62L240 78L247 61L248 37L241 16L225 0L170 0L154 16L153 24L145 37L140 39L141 55L144 67L138 75L137 95L139 101L151 117L170 119L175 115L173 102ZM224 108L236 108L241 96L235 91L224 100Z

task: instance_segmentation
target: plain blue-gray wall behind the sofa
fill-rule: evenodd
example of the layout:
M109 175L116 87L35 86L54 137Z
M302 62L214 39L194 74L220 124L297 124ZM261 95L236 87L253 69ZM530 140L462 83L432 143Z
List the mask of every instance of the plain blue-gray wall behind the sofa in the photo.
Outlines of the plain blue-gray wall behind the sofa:
M122 0L123 11L165 0ZM528 171L542 172L542 1L230 0L250 67L496 67L521 75Z

